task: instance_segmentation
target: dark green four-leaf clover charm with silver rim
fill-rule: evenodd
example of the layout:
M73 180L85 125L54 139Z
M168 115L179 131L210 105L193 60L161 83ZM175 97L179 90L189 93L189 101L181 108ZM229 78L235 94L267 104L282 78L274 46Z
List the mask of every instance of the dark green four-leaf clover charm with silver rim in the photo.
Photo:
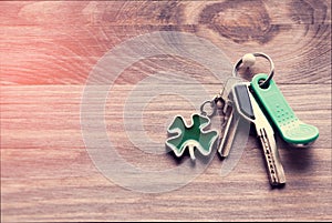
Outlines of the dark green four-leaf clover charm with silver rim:
M169 135L166 145L176 156L181 156L186 148L189 150L191 160L195 160L194 149L203 155L209 155L215 141L218 138L216 130L205 130L210 124L210 119L200 114L191 115L191 124L188 125L181 115L174 118L167 132Z

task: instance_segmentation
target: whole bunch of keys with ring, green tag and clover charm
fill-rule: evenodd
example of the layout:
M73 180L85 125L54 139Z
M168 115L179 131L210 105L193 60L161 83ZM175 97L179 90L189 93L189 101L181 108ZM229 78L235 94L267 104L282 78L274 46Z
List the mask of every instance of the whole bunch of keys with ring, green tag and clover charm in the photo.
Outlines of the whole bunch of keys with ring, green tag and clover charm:
M269 61L269 74L256 74L251 82L238 78L238 70L242 67L250 69L257 57ZM216 113L216 104L221 102L225 121L217 144L220 156L229 155L240 123L252 124L261 143L270 184L283 185L286 176L277 149L274 130L282 140L293 146L310 145L318 139L319 130L299 120L274 83L273 74L274 64L269 55L261 52L243 55L235 64L234 77L227 80L222 91L214 100L203 103L200 114L191 115L191 124L188 125L181 115L175 116L167 129L169 138L166 146L170 148L178 158L188 150L194 162L194 151L209 155L212 145L218 141L218 131L207 130L207 128L210 118ZM214 110L209 114L204 111L206 104L210 104Z

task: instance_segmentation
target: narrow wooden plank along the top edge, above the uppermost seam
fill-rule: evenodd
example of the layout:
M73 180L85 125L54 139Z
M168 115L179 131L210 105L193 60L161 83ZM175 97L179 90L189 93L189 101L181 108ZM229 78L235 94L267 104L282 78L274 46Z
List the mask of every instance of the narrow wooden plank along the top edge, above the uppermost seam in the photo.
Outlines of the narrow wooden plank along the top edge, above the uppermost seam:
M231 19L238 26L248 26L247 17L268 20L271 23L329 23L330 1L20 1L1 2L0 24L51 24L64 21L108 24L196 24L207 17L216 21L218 16ZM278 9L278 10L276 10ZM238 11L238 14L237 14ZM235 12L230 17L229 12ZM259 16L259 17L255 17ZM80 18L80 19L77 19Z

